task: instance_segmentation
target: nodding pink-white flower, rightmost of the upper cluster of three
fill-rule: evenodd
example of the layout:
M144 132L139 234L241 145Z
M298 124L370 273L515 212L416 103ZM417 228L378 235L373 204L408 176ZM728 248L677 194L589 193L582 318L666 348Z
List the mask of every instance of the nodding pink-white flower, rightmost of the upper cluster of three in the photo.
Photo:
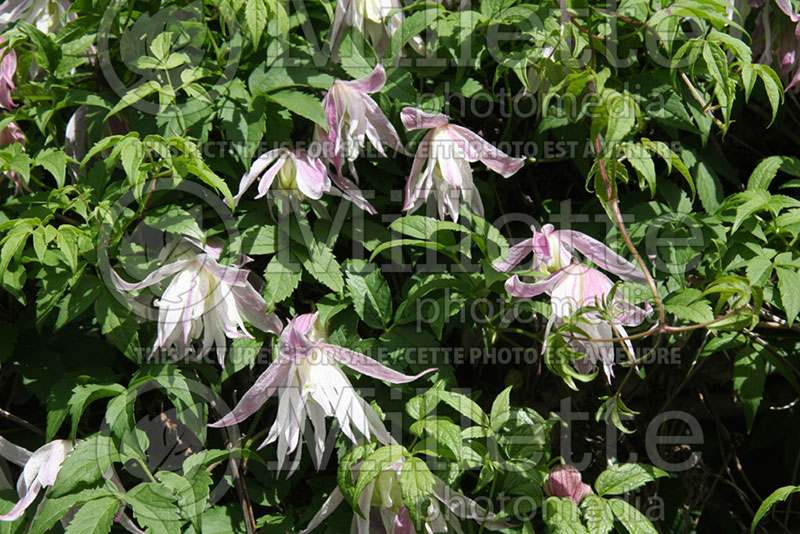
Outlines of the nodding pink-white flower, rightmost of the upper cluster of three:
M471 130L450 124L445 115L409 107L403 109L400 117L408 130L431 129L422 138L414 156L406 182L404 211L415 211L433 192L440 219L449 214L457 221L461 198L476 214L482 215L483 203L472 182L470 163L480 160L505 178L524 164L523 158L512 158Z

